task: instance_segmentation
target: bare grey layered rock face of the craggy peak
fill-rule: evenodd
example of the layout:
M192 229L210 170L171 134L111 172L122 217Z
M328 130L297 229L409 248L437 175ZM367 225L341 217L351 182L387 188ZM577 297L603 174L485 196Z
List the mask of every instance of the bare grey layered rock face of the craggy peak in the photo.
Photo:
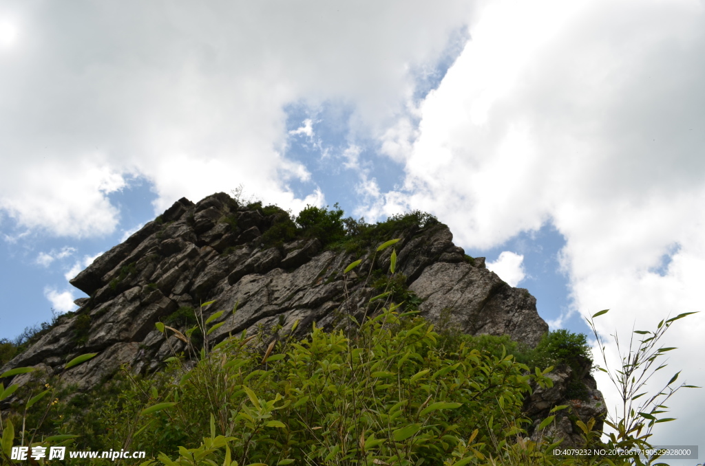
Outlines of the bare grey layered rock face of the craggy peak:
M297 320L304 336L313 322L330 329L344 313L362 318L369 298L379 294L367 271L387 270L392 248L377 254L371 267L377 244L362 257L324 250L315 238L265 247L263 234L277 215L238 206L223 193L196 204L180 199L71 280L90 298L77 300L75 314L2 370L35 365L78 389L111 377L121 363L135 372L156 370L170 355L169 344L176 351L184 344L173 336L165 341L155 322L205 301L216 303L204 317L237 306L214 321L223 325L211 341L245 329L252 334L282 325L286 331ZM467 258L446 225L407 227L380 243L391 238L400 238L397 269L429 320L443 313L467 334L508 334L532 346L548 331L536 299L487 270L484 258ZM342 272L357 258L362 263L348 274L346 299ZM88 363L63 371L67 360L93 352L99 354Z

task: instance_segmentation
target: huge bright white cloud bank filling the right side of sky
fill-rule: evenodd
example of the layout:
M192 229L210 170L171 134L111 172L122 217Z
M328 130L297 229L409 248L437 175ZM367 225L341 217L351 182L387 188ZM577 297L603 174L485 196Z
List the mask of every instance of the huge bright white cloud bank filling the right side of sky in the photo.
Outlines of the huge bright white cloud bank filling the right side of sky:
M575 312L613 309L601 334L628 338L634 320L639 328L698 310L703 4L492 1L475 19L472 41L420 106L410 149L396 146L403 189L379 199L435 213L466 248L550 220L566 239L560 257ZM664 254L671 262L659 274ZM705 382L704 327L705 314L694 315L670 336L682 347L670 367L696 385ZM699 405L694 391L679 395L682 407ZM682 413L692 428L661 429L659 441L682 444L701 431L701 410Z

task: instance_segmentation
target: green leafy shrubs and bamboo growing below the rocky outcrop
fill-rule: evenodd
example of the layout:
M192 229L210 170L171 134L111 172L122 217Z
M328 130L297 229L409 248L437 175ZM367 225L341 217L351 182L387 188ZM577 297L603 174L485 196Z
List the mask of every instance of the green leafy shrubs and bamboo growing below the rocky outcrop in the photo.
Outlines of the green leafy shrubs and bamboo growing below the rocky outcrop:
M310 225L331 220L325 220L326 212L324 220L320 212L312 213ZM337 213L332 217L340 220ZM377 252L392 245L388 241ZM359 264L345 268L345 284ZM163 372L135 377L123 367L90 393L60 386L55 378L45 381L38 372L19 390L0 385L0 402L13 400L11 410L0 415L0 462L18 464L10 460L10 448L23 443L147 451L141 466L653 464L635 455L559 458L551 453L556 443L527 439L532 421L522 410L530 383L551 386L546 365L584 370L589 362L584 335L550 332L537 348L526 348L508 336L460 334L447 312L434 329L417 315L415 296L395 267L393 251L391 273L375 279L381 294L372 299L376 308L369 316L358 320L339 309L342 325L329 332L314 323L309 336L296 339L299 322L280 316L269 333L242 332L214 344L209 334L222 325L225 311L209 311L211 317L204 319L201 310L182 307L157 323L166 341L176 336L187 347L172 351ZM201 308L209 306L214 303ZM656 395L632 404L649 371L664 367L656 360L673 349L658 347L658 340L688 314L663 320L654 332L637 331L644 340L629 348L623 367L613 373L600 368L611 374L628 403L619 418L605 421L617 431L606 445L593 431L598 420L575 421L586 446L649 448L651 427L670 420L662 417L664 401L687 385L674 386L676 374ZM80 315L75 322L76 329L88 327L90 317ZM182 333L174 327L190 329ZM80 355L65 367L94 355ZM0 379L31 371L20 367ZM537 428L548 427L565 408L553 408ZM86 464L72 461L63 464Z

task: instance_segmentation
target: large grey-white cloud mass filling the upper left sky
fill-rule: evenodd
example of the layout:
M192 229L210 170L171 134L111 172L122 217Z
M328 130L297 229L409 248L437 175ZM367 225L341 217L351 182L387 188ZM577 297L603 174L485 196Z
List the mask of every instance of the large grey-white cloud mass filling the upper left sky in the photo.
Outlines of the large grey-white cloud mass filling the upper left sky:
M405 112L411 70L436 60L471 6L132 1L81 15L52 4L15 9L32 34L0 58L0 210L23 228L90 237L114 231L119 212L109 194L133 176L152 182L157 212L242 182L263 199L302 208L306 199L288 181L310 175L284 155L286 106L345 101L353 125L383 131ZM312 123L300 130L308 135ZM317 196L307 186L305 196Z

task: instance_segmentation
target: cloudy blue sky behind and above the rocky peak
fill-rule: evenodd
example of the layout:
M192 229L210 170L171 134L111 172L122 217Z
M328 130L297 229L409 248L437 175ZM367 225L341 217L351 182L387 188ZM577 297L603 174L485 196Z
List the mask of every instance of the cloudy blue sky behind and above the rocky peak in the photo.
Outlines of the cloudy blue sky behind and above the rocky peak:
M4 0L0 338L75 309L68 279L177 199L242 187L433 213L552 329L611 309L613 367L610 334L701 310L703 56L702 0ZM668 330L666 381L705 385L704 330ZM659 444L701 441L702 399Z

